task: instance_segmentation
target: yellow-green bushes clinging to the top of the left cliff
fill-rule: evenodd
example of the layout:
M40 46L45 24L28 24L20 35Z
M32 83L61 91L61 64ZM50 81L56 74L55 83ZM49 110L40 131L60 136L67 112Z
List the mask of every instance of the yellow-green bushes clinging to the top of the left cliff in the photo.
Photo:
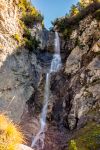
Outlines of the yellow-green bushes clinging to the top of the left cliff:
M29 28L33 28L37 23L41 23L43 27L43 16L27 0L19 0L18 7L22 14L19 20L23 29L22 45L29 51L35 51L39 47L40 41L31 35Z

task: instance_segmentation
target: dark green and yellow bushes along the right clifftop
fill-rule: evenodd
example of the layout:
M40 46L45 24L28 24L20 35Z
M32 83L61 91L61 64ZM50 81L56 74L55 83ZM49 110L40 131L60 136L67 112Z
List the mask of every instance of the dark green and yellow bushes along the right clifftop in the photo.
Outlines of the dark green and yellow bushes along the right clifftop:
M69 13L64 17L56 18L52 24L58 32L62 33L62 37L67 39L73 27L77 28L79 22L89 14L100 20L100 0L80 0L76 5L72 5Z

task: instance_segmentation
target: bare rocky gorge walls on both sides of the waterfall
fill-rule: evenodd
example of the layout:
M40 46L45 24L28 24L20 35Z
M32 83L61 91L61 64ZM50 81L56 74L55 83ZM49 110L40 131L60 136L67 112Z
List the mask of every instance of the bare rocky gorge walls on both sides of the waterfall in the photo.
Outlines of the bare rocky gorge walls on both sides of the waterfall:
M40 43L29 50L20 42L20 11L18 0L0 0L0 112L21 126L30 146L40 128L55 35L37 21L28 28ZM51 75L44 150L100 149L100 3L80 16L58 19L53 28L62 68Z

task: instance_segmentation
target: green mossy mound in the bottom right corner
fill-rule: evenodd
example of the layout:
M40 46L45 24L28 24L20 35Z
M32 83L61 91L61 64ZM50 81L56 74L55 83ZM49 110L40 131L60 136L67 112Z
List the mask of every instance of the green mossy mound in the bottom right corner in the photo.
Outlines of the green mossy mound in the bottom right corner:
M88 123L69 143L69 150L99 150L100 124Z

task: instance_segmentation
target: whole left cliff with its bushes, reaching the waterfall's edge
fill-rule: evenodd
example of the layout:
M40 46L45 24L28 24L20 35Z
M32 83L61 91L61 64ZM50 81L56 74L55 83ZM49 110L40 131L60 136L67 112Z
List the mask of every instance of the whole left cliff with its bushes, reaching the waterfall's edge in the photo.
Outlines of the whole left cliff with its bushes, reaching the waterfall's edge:
M43 27L42 20L34 20L32 27L23 22L27 6L32 7L23 0L0 1L0 111L16 122L20 122L26 101L37 91L54 51L54 33Z

